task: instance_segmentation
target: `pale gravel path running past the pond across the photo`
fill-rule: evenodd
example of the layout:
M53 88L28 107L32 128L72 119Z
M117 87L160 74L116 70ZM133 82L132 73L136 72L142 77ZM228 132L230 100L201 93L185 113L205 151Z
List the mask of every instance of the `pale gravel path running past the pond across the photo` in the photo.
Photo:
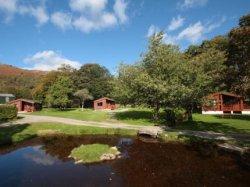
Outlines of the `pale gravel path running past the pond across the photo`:
M110 122L96 122L96 121L82 121L76 119L62 118L62 117L52 117L52 116L36 116L36 115L25 115L18 114L21 119L16 121L8 122L1 124L4 126L11 126L17 124L25 123L40 123L40 122L49 122L49 123L62 123L66 125L79 125L79 126L90 126L90 127L102 127L102 128L117 128L117 129L132 129L144 132L151 132L151 134L158 134L164 131L168 131L168 128L162 128L157 126L142 126L142 125L129 125L125 123L110 123ZM171 130L170 130L171 131ZM182 135L191 135L197 136L200 138L207 139L216 139L216 140L249 140L250 135L241 135L241 134L224 134L217 133L212 131L191 131L191 130L178 130L175 131Z

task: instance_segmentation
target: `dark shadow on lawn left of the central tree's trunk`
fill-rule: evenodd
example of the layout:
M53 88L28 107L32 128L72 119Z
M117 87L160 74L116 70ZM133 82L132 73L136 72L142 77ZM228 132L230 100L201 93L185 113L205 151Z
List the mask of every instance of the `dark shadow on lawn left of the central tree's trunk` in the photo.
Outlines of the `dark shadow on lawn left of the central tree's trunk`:
M159 120L155 122L153 120L152 111L124 111L117 112L113 116L117 120L137 120L137 121L147 121L150 123L164 124L164 114L160 113Z

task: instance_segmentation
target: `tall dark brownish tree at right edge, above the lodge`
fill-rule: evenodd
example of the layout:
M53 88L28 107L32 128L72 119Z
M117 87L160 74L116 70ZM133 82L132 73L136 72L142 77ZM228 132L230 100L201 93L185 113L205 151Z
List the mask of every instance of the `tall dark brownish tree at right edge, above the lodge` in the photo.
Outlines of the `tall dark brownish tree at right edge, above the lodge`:
M250 98L250 14L230 31L227 85L231 91Z

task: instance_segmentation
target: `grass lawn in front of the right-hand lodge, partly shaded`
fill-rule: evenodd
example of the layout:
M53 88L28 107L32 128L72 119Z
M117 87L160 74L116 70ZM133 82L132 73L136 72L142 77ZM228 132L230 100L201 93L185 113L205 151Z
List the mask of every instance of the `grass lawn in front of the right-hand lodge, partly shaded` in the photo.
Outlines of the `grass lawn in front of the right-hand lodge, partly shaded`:
M176 126L178 130L214 131L222 133L250 133L250 116L193 114L193 121Z

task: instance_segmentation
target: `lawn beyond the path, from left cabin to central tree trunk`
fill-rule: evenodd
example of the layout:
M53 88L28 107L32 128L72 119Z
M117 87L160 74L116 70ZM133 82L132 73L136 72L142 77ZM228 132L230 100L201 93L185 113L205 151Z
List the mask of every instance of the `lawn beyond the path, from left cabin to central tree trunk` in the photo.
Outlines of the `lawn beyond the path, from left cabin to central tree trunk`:
M56 116L84 121L106 121L110 123L121 122L131 125L154 125L152 114L152 110L140 108L130 108L126 109L126 111L94 111L91 109L84 109L84 111L81 111L81 109L68 109L61 111L58 109L43 109L42 111L31 113L31 115Z

